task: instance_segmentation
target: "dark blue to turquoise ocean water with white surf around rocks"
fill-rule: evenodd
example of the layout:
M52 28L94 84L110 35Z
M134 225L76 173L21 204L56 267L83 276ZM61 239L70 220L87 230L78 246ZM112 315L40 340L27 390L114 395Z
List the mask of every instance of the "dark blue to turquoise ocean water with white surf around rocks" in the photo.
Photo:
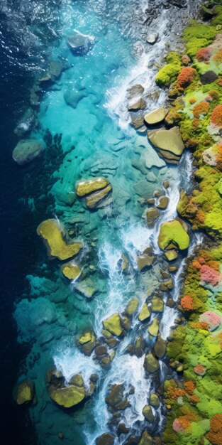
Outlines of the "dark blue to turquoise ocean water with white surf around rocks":
M179 166L167 166L148 143L146 134L135 132L129 125L126 90L131 85L141 83L145 87L148 111L165 104L165 93L158 90L154 81L156 64L161 63L168 43L172 48L179 47L182 26L189 16L195 16L199 5L199 1L194 1L192 9L188 2L186 9L166 10L161 3L60 0L20 1L15 6L4 1L0 9L4 23L1 85L6 116L6 122L1 123L1 233L6 233L3 284L7 290L1 326L5 326L5 333L10 331L9 345L4 343L6 369L11 369L10 348L13 360L8 392L4 393L10 412L14 407L9 396L13 384L25 377L35 382L37 404L23 410L23 419L29 419L29 423L22 431L21 412L13 408L14 417L19 420L19 440L24 444L27 436L35 436L33 441L41 445L59 444L59 431L64 434L63 443L75 445L95 444L104 432L116 434L105 402L114 383L123 383L126 391L132 385L135 388L129 396L131 407L121 417L130 427L130 434L140 436L146 427L150 433L159 434L164 426L162 404L154 412L152 425L142 414L150 391L157 388L163 376L160 372L159 380L146 378L144 356L137 358L127 353L128 345L138 336L143 336L147 351L153 346L136 318L108 368L101 368L93 354L84 356L76 345L79 334L89 328L99 338L104 318L116 311L121 313L133 296L142 307L148 291L157 289L165 265L157 246L160 223L175 217L179 188L190 186L189 154L184 154ZM154 6L157 17L148 25L145 18ZM174 14L177 20L172 20ZM150 46L146 36L156 30L160 39ZM76 31L90 37L88 53L74 54L67 45L67 39ZM62 74L50 85L45 82L39 107L31 107L35 116L31 120L30 114L27 117L29 89L36 78L45 76L52 60L62 63ZM7 93L4 85L9 85ZM150 97L154 90L155 99ZM13 134L16 126L28 129L22 137L33 137L46 145L45 154L23 168L11 159L19 139L18 132ZM92 176L106 176L113 186L111 205L96 211L84 208L74 193L79 179ZM170 205L154 227L147 227L146 208L141 200L151 198L154 191L163 192L165 180L170 181ZM61 263L48 258L36 235L38 224L47 218L57 218L84 243L79 262L86 271L86 281L96 291L92 299L79 294L77 283L62 279ZM201 240L193 240L192 246L198 242ZM152 269L140 273L136 257L147 247L152 247L157 260ZM123 254L130 264L128 274L123 274L120 267ZM175 301L181 272L182 268L174 276ZM168 297L166 294L165 299ZM177 311L165 306L160 321L163 338L169 336L175 318ZM54 366L62 371L67 382L72 375L82 372L88 385L91 373L96 373L96 394L77 409L61 409L50 400L45 380L46 372ZM115 445L124 440L120 436ZM12 443L18 441L13 439Z

